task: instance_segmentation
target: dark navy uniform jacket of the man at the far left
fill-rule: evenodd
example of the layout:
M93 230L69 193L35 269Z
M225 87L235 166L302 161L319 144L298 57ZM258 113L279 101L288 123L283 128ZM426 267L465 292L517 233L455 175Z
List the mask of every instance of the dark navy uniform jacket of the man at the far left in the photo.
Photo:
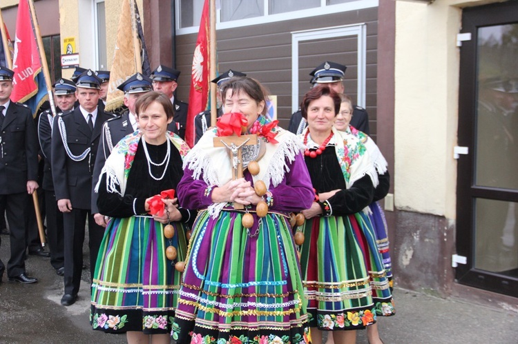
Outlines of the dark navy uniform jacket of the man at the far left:
M0 194L27 192L27 181L38 179L38 141L26 105L9 103L0 137Z

